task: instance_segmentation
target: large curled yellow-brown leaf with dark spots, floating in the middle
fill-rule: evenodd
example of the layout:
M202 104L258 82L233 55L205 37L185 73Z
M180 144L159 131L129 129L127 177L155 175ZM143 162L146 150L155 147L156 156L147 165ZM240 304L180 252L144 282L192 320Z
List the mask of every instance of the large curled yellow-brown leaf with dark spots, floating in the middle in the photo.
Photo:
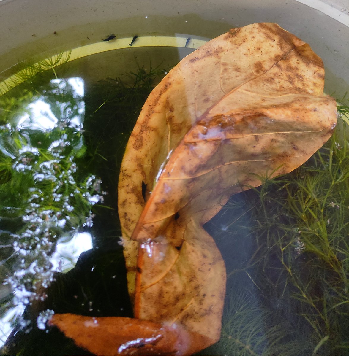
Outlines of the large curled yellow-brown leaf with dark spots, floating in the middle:
M328 140L336 104L323 84L307 43L256 23L206 43L152 91L119 178L135 323L186 330L199 349L219 339L225 266L202 225L232 194L260 185L258 175L290 172ZM163 354L183 353L179 339L169 342Z

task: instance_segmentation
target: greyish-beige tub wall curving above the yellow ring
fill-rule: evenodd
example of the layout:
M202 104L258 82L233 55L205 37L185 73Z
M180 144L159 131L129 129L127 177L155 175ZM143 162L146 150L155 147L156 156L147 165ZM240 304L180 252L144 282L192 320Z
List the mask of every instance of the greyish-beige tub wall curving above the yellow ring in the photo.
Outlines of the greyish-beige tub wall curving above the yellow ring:
M339 97L349 87L348 13L347 0L0 0L0 80L18 62L109 33L213 38L232 27L276 22L322 57L326 90Z

